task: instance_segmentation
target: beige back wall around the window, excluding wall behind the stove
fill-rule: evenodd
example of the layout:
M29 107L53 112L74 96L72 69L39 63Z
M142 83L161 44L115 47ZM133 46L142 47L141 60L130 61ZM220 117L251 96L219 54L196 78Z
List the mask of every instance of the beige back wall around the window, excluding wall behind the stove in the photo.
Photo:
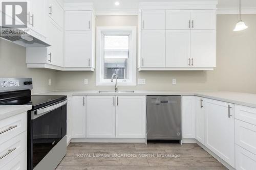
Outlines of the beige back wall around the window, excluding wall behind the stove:
M137 71L145 85L122 86L120 89L155 90L228 90L256 93L256 15L243 16L249 29L234 33L237 15L217 17L217 68L214 71ZM137 26L137 16L98 16L97 26ZM172 84L172 79L177 84ZM89 79L84 85L83 79ZM74 82L74 83L72 83ZM75 84L75 85L74 85ZM113 89L96 86L96 72L58 71L57 89Z

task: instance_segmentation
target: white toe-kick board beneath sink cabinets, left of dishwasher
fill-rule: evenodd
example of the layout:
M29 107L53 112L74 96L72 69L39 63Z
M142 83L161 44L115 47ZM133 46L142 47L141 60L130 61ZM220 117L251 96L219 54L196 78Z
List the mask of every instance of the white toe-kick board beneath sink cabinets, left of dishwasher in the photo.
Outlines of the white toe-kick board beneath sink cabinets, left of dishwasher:
M94 143L145 143L145 138L72 138L71 142Z

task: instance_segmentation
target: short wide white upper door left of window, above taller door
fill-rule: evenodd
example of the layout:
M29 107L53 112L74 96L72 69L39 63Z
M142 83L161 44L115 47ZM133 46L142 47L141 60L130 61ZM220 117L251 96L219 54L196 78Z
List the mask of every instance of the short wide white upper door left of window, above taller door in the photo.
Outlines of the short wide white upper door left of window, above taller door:
M91 30L91 11L65 11L65 30Z

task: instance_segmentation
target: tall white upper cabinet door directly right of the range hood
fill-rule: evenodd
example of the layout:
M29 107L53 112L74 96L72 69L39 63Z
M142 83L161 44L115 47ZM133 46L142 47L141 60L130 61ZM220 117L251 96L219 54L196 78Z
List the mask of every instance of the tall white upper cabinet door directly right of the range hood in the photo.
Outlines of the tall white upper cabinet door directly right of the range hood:
M49 19L48 40L48 63L63 66L63 30Z

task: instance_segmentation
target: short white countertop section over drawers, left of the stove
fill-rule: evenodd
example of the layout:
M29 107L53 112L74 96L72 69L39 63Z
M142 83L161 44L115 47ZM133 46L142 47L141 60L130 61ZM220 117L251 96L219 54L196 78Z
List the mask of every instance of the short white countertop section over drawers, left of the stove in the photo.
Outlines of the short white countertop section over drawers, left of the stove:
M31 110L31 105L4 105L0 106L0 120Z

